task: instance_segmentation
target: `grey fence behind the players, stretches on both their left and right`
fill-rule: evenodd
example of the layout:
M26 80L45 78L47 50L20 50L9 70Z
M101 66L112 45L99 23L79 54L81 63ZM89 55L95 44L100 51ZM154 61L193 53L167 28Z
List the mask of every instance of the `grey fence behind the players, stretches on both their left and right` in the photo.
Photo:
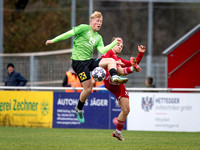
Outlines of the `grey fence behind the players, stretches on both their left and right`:
M7 72L7 64L13 63L15 70L20 72L31 86L61 86L65 72L70 68L71 49L43 53L1 54L2 72L1 85ZM93 57L97 57L97 53ZM121 56L129 59L127 56ZM165 57L154 57L152 72L156 87L166 87ZM127 87L144 87L146 78L146 57L140 63L142 71L128 75Z

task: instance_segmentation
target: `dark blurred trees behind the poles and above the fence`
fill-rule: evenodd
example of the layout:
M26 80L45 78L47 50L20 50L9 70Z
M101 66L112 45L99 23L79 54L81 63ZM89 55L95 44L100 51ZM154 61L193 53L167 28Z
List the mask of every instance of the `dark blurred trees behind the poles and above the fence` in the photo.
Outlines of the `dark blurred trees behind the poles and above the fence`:
M105 45L113 36L124 39L125 55L147 45L148 3L95 1L104 22L100 34ZM77 0L77 25L89 23L88 1ZM154 3L153 54L161 55L200 21L200 3ZM45 46L71 29L71 0L4 0L4 52L39 52L70 48L71 40ZM148 49L148 47L147 47Z

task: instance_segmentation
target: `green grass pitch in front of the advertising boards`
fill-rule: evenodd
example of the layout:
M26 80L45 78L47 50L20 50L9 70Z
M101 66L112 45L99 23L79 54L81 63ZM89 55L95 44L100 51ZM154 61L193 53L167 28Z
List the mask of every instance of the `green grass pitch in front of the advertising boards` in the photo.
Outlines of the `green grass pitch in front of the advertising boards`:
M200 132L0 127L0 150L200 150Z

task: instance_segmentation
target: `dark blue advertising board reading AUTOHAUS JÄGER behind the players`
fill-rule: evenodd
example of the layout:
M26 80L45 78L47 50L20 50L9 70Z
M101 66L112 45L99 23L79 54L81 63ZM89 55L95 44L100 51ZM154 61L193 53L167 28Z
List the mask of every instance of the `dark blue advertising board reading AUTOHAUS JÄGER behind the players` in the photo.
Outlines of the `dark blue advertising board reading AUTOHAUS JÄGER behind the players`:
M75 106L80 93L54 92L53 128L115 129L121 109L109 92L94 92L83 107L85 123L76 118ZM126 129L126 126L124 127Z

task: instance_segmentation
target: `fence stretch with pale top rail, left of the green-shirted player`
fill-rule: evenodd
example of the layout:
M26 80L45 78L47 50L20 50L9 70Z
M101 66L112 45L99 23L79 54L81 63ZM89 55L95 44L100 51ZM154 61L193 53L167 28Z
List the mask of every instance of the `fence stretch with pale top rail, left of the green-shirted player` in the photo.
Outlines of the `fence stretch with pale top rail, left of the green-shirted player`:
M0 76L4 81L6 66L13 63L15 70L28 80L28 85L60 86L70 67L71 52L68 49L44 53L1 54L4 68Z

